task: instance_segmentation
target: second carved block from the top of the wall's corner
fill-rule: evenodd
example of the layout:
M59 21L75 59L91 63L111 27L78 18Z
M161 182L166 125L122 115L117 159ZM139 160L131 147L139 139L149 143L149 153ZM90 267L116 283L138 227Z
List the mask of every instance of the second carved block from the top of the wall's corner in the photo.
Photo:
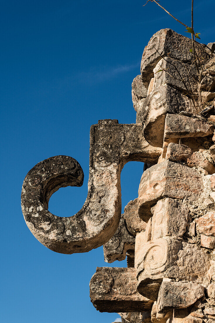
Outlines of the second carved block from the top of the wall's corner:
M162 70L162 71L161 71ZM189 74L188 74L188 71ZM183 63L171 57L163 57L157 63L154 72L153 89L168 84L169 86L187 93L187 89L192 89L193 93L197 92L198 78L195 65ZM182 82L183 79L183 82Z

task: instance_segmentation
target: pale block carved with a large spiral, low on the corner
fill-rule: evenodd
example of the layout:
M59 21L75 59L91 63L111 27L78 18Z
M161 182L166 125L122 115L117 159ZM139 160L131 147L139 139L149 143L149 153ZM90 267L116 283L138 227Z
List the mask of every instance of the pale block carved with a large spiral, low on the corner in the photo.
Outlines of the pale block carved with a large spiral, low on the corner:
M205 279L210 268L207 250L181 240L174 236L143 242L142 257L139 255L136 264L137 290L141 295L156 300L165 277L180 280L189 277L197 283Z

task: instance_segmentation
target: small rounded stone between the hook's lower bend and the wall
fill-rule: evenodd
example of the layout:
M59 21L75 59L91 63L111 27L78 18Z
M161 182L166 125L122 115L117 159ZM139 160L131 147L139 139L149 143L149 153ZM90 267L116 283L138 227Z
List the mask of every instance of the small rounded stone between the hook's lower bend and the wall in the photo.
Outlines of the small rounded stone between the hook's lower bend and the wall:
M124 208L125 225L130 234L136 236L138 232L144 231L146 223L142 221L137 213L137 199L130 201Z

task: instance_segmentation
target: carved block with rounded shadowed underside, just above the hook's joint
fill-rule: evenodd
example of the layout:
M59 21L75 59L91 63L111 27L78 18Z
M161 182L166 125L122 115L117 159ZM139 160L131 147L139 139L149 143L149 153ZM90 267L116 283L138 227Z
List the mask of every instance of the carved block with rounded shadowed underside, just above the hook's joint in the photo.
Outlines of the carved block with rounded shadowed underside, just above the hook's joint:
M163 146L163 134L167 113L192 110L192 101L169 85L154 89L144 100L142 108L142 125L144 138L152 146Z

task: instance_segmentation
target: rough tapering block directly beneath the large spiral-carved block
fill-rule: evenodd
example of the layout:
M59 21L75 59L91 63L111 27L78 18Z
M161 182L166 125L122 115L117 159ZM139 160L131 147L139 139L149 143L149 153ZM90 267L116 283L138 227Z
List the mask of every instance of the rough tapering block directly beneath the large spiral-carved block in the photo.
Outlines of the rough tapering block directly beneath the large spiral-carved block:
M204 295L204 287L199 284L174 282L164 278L158 294L158 312L189 307Z

